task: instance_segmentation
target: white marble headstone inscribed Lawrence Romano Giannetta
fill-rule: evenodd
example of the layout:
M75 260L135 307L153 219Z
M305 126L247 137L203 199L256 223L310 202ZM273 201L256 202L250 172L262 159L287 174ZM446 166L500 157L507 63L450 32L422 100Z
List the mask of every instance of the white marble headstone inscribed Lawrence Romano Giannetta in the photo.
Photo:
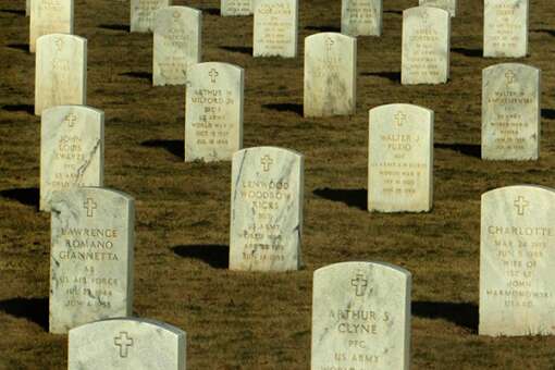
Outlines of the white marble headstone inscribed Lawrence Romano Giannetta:
M50 332L130 316L135 201L100 187L52 195Z

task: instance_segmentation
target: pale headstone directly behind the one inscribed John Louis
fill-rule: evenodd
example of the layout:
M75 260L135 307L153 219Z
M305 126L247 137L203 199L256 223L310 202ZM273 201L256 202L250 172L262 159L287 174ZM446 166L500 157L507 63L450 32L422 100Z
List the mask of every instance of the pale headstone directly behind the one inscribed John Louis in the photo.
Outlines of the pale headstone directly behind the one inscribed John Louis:
M35 114L55 106L86 104L86 39L62 34L40 36L35 69Z

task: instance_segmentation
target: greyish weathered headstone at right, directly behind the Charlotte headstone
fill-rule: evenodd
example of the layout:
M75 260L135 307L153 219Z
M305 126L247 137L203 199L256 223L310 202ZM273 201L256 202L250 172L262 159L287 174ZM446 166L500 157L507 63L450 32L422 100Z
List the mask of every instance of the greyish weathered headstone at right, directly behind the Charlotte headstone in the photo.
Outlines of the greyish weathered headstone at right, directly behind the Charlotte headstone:
M482 72L482 159L540 156L540 70L517 63Z

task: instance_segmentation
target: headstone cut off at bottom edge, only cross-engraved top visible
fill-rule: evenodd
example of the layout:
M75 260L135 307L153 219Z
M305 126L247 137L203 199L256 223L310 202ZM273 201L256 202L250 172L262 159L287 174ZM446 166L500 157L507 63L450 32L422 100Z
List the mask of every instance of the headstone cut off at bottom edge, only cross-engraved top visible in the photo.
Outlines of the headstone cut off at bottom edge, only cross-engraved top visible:
M185 370L186 333L155 320L101 320L70 330L69 370Z

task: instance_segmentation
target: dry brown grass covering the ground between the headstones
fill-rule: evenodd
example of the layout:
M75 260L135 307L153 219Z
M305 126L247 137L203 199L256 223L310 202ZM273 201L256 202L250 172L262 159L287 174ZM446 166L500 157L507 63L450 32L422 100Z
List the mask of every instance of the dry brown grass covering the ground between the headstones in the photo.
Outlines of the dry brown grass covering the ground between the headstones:
M542 70L541 159L480 159L482 0L453 20L446 85L402 86L402 10L384 1L381 38L358 40L354 116L304 119L303 40L338 30L340 1L303 0L299 57L251 57L252 18L203 11L202 61L245 69L245 147L305 155L303 270L227 270L230 162L184 163L184 87L151 86L152 36L128 33L128 1L75 0L88 39L88 104L106 112L106 185L136 199L138 317L187 332L189 369L308 369L311 276L348 260L408 269L414 369L553 369L554 337L478 336L480 195L513 184L554 186L555 8L531 0L530 55ZM0 0L0 369L64 369L66 335L48 334L49 214L38 212L40 120L23 0ZM425 214L368 213L368 110L409 102L435 112L435 199Z

